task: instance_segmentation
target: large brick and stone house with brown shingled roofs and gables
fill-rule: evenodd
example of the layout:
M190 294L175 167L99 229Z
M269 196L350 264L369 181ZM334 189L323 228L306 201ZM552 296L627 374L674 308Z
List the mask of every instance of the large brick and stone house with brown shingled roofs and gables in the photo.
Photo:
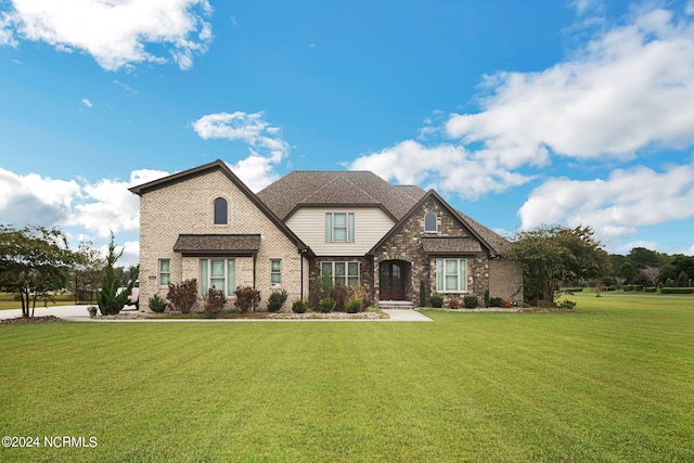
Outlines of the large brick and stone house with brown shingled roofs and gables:
M254 286L264 301L285 290L308 298L311 282L360 285L376 301L420 305L472 294L523 300L510 243L451 207L434 190L393 185L368 171L294 171L257 194L222 160L133 187L140 196L141 306L169 282L200 294ZM262 305L262 303L261 303ZM288 304L285 306L288 309Z

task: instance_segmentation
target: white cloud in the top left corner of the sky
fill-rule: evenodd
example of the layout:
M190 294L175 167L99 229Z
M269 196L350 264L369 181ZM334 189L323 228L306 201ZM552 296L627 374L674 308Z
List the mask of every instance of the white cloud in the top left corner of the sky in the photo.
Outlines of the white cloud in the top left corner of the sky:
M164 63L147 46L166 48L181 69L205 53L213 38L207 0L12 0L0 16L0 44L17 38L59 51L89 53L106 70L136 63Z

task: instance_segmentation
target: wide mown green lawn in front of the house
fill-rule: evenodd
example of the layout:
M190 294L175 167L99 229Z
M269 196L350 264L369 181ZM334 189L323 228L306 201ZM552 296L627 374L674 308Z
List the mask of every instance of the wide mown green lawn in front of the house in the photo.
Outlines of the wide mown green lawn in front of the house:
M694 461L694 299L0 325L0 461ZM95 448L46 448L43 436Z

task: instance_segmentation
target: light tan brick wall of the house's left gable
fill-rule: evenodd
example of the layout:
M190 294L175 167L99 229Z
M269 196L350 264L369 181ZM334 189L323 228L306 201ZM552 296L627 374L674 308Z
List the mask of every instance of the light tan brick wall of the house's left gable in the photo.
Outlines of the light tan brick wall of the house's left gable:
M217 197L228 203L226 226L214 224L213 203ZM166 297L168 290L158 282L159 259L170 259L171 282L200 280L198 258L182 257L174 252L181 233L259 233L256 287L262 297L261 308L274 291L270 285L270 259L282 259L282 288L290 293L283 310L291 310L291 301L300 297L301 256L296 245L224 173L214 170L149 191L140 197L140 310L149 310L147 301L154 294ZM308 282L304 283L307 296ZM253 259L236 258L235 285L252 284ZM231 304L228 300L227 307Z

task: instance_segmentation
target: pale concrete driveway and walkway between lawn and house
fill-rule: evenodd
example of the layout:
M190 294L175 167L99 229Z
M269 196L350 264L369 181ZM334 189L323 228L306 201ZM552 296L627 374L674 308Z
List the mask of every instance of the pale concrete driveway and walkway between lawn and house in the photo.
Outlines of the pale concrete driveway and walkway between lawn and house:
M54 306L54 307L37 307L34 312L34 317L48 317L54 316L63 320L69 321L157 321L154 319L133 319L133 320L94 320L89 317L89 312L87 311L88 306ZM389 319L381 319L381 320L364 320L364 319L327 319L327 320L314 320L314 321L391 321L391 322L430 322L433 321L428 317L423 316L416 310L411 309L384 309L385 313L388 314ZM134 306L126 306L123 313L137 313ZM10 310L0 310L0 320L3 319L16 319L22 317L22 309L10 309ZM184 320L179 319L176 321L207 321L207 320ZM215 321L248 321L244 319L216 319ZM253 321L265 321L265 320L253 320ZM284 321L281 319L268 319L267 321ZM286 319L286 321L296 321Z

